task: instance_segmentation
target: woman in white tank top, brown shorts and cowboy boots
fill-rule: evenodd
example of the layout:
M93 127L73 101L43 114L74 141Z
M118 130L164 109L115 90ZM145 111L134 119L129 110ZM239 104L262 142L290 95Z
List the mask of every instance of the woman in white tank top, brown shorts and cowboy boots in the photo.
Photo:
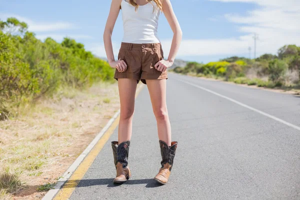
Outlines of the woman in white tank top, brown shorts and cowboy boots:
M114 60L111 34L118 13L122 10L124 35ZM157 37L160 12L163 11L173 39L167 60ZM170 0L112 0L103 39L109 65L115 69L120 96L118 141L112 141L116 177L114 183L124 182L131 176L128 167L128 150L132 131L134 96L139 80L147 84L153 112L157 121L161 152L161 168L154 179L165 184L170 175L177 142L171 142L171 128L166 108L166 69L173 64L181 42L182 32Z

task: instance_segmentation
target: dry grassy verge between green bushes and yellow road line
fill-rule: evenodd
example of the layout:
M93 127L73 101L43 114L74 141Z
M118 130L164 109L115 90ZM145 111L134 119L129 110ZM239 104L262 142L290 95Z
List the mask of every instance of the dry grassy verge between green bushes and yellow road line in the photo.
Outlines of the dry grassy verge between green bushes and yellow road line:
M0 121L0 199L40 199L118 108L117 84L98 83Z

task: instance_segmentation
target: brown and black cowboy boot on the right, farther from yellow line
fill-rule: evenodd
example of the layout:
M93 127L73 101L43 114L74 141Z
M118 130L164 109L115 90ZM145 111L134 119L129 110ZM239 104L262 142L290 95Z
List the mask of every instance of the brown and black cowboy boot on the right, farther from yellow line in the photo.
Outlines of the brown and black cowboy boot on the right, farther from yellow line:
M159 140L160 153L161 153L161 168L159 172L154 177L154 180L161 184L165 184L170 176L171 169L173 166L173 160L175 156L175 151L177 148L177 141L172 141L171 146L168 146L164 141Z

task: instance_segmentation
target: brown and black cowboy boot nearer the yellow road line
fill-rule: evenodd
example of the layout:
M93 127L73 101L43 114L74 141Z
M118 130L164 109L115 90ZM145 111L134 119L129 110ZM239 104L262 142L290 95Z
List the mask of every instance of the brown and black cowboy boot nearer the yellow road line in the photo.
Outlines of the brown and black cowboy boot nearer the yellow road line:
M111 142L114 165L116 169L116 177L113 179L113 183L124 182L131 176L130 169L127 166L129 145L129 140L123 141L120 144L118 144L117 141Z

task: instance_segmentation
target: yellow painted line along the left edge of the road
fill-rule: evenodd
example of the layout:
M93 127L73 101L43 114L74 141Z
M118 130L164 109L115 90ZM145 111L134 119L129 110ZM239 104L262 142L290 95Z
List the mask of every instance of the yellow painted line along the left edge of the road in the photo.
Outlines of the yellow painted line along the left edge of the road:
M136 91L135 97L141 91L143 85L141 85ZM73 193L77 184L80 182L90 165L93 163L96 156L99 154L114 129L116 128L119 121L119 116L113 121L107 131L103 134L103 136L99 139L99 141L95 144L92 150L88 153L88 155L84 158L84 160L79 164L76 170L73 172L71 177L64 183L62 188L57 192L56 196L53 200L66 200Z

